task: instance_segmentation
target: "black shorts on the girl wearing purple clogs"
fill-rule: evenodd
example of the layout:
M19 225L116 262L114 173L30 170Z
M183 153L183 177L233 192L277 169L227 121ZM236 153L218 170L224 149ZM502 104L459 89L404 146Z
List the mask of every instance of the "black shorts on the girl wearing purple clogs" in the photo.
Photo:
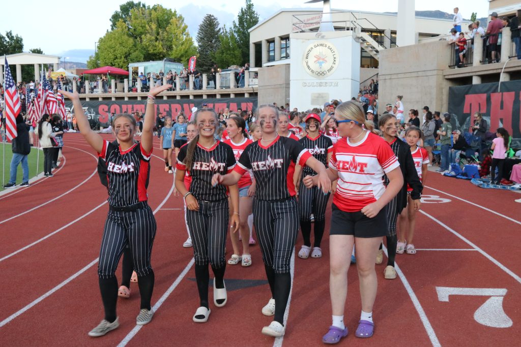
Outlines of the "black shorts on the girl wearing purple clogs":
M387 206L369 218L361 211L344 212L333 203L331 205L330 235L353 235L354 237L380 237L387 235Z

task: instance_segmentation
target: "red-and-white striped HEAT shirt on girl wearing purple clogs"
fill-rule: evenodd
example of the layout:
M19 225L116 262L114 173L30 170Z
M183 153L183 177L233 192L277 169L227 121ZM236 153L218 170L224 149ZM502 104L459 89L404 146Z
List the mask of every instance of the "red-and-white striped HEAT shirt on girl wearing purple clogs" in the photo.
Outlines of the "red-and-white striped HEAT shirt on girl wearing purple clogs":
M339 177L333 203L344 212L361 211L383 195L383 175L399 166L389 144L378 135L367 132L356 145L340 138L329 161Z

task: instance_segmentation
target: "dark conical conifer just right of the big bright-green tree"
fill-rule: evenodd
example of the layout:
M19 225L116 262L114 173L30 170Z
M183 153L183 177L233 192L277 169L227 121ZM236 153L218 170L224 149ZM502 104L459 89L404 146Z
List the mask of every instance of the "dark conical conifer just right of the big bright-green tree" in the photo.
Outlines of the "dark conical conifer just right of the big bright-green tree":
M210 72L215 65L214 53L220 46L219 21L214 15L206 15L197 31L197 66L201 72Z

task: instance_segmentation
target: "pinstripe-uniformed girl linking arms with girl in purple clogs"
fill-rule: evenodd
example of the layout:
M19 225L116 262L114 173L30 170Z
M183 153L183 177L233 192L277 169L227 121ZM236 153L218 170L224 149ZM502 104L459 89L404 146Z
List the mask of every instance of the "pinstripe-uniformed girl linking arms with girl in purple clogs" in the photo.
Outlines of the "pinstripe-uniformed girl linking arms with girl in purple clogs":
M274 321L262 329L265 335L284 335L284 311L291 290L290 257L299 233L299 208L293 183L295 163L310 166L324 194L331 189L324 164L313 158L299 142L277 135L279 111L272 105L259 106L257 123L263 137L250 144L235 169L227 174L215 174L212 182L233 186L242 175L253 170L256 181L253 218L257 239L271 289L271 299L262 313Z

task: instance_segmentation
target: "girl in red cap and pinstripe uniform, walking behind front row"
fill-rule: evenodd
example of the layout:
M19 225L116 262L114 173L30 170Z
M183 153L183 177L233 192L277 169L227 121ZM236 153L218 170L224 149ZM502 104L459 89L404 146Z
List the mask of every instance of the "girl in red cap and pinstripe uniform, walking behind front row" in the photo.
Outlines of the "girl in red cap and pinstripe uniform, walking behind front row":
M306 118L307 135L301 138L299 142L313 155L315 159L320 161L327 168L329 159L331 158L331 152L333 151L333 143L329 137L320 135L319 126L320 116L316 113L309 113ZM296 181L301 181L301 173L302 177L307 175L314 176L317 174L309 168L309 166L301 168L299 165L297 166L296 171ZM329 192L328 194L323 194L317 187L306 188L304 184L300 184L300 228L302 230L304 245L299 251L299 258L307 259L309 257L309 252L311 251L311 214L315 217L315 240L311 256L312 258L320 258L322 256L320 242L322 241L324 227L326 226L326 207L328 200Z

